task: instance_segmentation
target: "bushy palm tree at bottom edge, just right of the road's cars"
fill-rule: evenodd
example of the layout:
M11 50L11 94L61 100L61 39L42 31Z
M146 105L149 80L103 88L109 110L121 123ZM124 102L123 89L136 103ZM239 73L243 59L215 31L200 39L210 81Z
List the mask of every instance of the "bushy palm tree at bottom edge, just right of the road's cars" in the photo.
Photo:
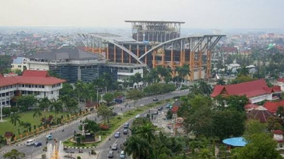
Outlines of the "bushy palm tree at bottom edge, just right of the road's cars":
M147 142L137 135L131 135L124 143L124 151L128 155L132 155L132 159L151 159L152 147Z

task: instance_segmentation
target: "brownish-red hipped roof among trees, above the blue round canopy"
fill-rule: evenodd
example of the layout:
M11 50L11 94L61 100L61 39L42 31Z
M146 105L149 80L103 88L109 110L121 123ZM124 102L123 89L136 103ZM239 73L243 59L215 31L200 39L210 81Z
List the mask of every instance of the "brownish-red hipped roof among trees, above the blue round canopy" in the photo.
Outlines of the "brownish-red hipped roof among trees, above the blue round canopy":
M267 110L257 110L257 109L254 109L254 110L251 110L247 114L247 117L249 119L256 119L256 120L259 120L262 123L266 123L270 116L276 117L274 114L270 113Z

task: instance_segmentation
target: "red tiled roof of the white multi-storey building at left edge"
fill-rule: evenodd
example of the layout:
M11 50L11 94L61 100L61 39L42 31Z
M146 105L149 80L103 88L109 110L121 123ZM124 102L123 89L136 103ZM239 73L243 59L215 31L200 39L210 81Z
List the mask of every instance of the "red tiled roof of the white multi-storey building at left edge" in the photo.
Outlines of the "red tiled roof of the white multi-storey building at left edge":
M36 73L31 72L31 73L26 73L25 76L0 78L0 86L8 86L8 85L15 85L15 84L55 85L55 84L66 82L65 80L55 78L55 77L39 76L39 75L44 75L44 73L42 72L38 74L38 76L34 76L35 74Z

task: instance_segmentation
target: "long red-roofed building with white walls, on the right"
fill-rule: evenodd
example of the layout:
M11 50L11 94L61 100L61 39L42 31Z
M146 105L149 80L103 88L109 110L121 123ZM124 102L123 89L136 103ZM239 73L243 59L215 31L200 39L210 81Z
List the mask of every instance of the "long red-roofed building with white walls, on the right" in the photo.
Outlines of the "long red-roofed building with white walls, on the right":
M273 100L272 96L277 96L280 93L279 87L268 87L266 81L261 79L233 85L216 85L213 89L211 97L214 98L218 95L245 95L251 101L251 103L257 103L264 100Z

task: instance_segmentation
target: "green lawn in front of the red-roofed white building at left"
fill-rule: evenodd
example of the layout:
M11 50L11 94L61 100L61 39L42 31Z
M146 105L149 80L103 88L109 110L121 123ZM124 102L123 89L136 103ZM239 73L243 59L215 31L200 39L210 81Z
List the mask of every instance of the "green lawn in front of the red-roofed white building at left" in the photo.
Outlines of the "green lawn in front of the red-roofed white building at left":
M44 112L42 112L42 116L41 117L32 117L34 111L27 111L27 112L21 112L19 113L20 117L20 121L24 121L24 122L29 122L31 124L31 128L33 129L34 125L39 125L41 123L41 118L44 116ZM46 116L48 117L49 115L52 115L53 117L55 117L55 113L54 112L46 112ZM62 113L57 114L57 117L61 117ZM4 117L3 120L6 120L6 122L0 123L0 135L4 135L4 133L6 131L12 131L14 132L15 130L15 134L18 135L17 129L21 128L19 127L19 124L17 123L15 129L14 126L12 125L12 123L10 122L10 116L8 117Z

